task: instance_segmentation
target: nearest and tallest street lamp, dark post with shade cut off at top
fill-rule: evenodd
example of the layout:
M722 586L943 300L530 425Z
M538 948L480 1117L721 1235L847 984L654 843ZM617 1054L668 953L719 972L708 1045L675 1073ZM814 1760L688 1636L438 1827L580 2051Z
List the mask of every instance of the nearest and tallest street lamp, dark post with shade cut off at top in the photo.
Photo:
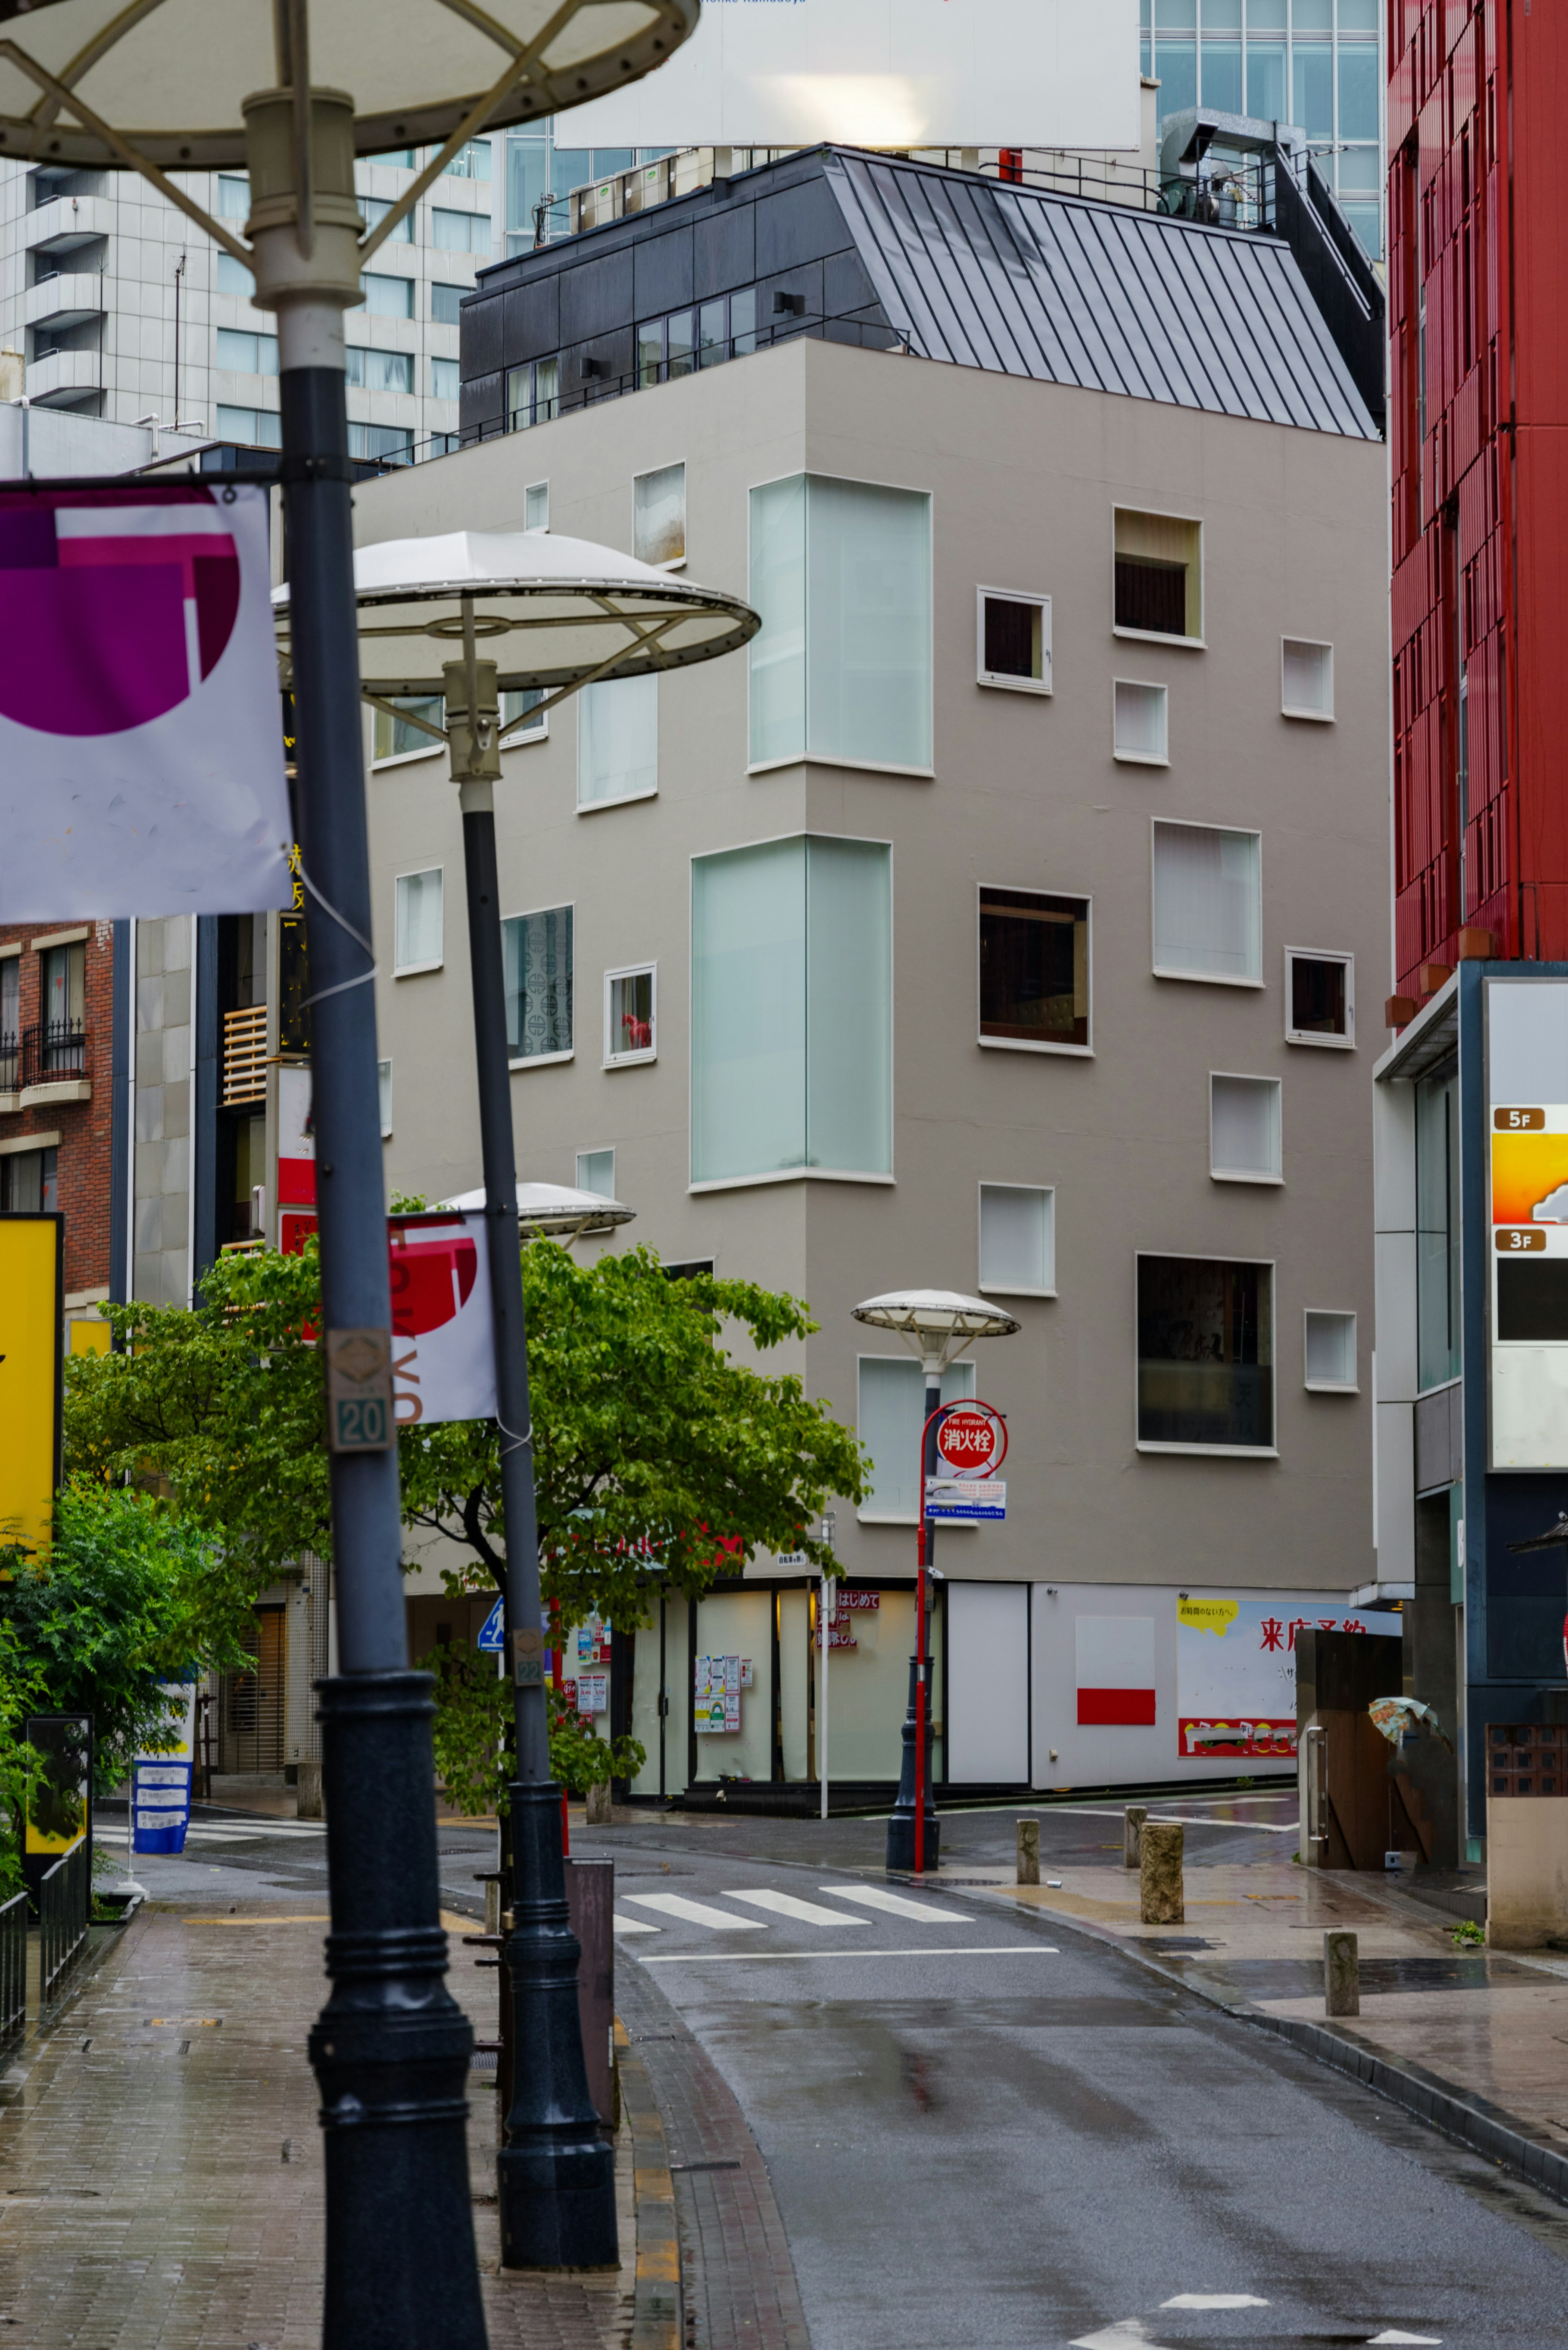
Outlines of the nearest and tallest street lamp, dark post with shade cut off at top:
M2 12L0 153L139 172L277 313L339 1629L339 1673L322 1685L331 1998L310 2035L327 2131L324 2338L477 2350L473 2033L442 1983L430 1680L407 1668L402 1598L364 764L348 691L343 310L468 139L649 73L696 28L698 0L2 0ZM355 155L411 143L430 160L364 233ZM249 169L244 237L169 179L233 167Z

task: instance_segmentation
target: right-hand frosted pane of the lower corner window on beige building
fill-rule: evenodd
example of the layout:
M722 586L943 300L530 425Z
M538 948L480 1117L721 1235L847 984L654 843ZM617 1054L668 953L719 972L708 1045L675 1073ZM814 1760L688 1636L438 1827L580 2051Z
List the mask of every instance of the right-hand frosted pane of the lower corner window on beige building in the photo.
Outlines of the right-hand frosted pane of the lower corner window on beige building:
M879 841L806 844L806 1163L893 1173L893 877Z

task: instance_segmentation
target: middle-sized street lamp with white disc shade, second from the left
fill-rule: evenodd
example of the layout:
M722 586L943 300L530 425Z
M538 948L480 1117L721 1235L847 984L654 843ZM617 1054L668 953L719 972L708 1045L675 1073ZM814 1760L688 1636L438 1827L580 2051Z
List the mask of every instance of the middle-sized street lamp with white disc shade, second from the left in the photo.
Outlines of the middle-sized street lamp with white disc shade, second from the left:
M512 1901L503 1986L512 2002L515 2059L512 2106L496 2155L501 2263L604 2268L616 2261L616 2169L588 2094L578 1943L567 1922L562 1868L562 1791L550 1779L517 1229L607 1229L628 1222L630 1208L590 1191L562 1196L552 1187L527 1187L543 1194L527 1203L517 1196L496 785L501 750L541 710L588 684L656 677L733 653L762 620L722 590L677 580L583 538L541 531L451 531L360 548L355 595L362 698L447 747L463 808L517 1758L508 1786ZM273 604L289 677L306 651L303 630L287 588L275 590ZM503 693L541 691L543 703L510 726L503 721ZM400 700L437 698L444 705L440 726L400 707Z

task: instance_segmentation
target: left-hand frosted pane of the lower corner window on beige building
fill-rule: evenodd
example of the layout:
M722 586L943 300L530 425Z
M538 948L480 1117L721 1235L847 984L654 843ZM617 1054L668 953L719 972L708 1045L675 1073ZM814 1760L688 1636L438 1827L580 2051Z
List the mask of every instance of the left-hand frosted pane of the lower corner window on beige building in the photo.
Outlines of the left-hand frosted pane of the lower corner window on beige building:
M806 844L691 870L691 1180L806 1156Z

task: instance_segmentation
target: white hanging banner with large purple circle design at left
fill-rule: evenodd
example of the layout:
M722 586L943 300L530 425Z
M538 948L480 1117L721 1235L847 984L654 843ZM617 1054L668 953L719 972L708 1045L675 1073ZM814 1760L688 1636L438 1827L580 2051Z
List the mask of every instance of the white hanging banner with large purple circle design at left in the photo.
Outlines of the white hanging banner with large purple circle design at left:
M292 900L266 491L0 489L0 921Z

